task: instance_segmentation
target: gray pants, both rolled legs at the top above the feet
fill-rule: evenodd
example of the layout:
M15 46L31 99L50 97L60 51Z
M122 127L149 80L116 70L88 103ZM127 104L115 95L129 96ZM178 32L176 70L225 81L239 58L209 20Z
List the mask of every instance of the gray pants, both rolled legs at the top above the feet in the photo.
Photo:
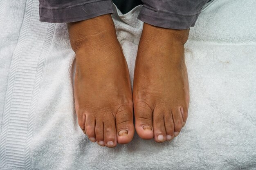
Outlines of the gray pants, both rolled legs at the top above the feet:
M169 29L189 29L209 0L142 0L138 19ZM39 0L42 22L76 22L113 13L112 0Z

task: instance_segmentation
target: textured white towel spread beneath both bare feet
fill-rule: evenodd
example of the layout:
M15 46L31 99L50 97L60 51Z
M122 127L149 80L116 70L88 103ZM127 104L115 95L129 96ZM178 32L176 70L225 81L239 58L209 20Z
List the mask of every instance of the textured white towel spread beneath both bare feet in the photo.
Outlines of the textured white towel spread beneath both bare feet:
M133 80L141 6L113 15ZM186 43L191 103L171 142L92 143L74 112L66 24L0 1L0 170L256 170L256 1L214 0Z

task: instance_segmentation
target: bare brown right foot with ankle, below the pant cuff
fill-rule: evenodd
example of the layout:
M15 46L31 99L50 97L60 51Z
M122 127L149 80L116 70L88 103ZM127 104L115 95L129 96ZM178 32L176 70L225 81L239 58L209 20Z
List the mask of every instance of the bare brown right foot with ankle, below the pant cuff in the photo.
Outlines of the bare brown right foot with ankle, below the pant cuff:
M135 129L142 139L171 140L186 122L189 83L184 44L188 35L189 30L144 23L133 82Z

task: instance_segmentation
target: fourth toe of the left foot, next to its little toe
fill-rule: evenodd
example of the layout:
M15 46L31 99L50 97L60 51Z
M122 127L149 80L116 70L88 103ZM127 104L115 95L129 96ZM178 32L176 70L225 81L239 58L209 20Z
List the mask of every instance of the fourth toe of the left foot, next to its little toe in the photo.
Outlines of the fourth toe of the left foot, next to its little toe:
M95 119L93 115L86 115L85 119L85 132L89 137L90 141L95 142Z

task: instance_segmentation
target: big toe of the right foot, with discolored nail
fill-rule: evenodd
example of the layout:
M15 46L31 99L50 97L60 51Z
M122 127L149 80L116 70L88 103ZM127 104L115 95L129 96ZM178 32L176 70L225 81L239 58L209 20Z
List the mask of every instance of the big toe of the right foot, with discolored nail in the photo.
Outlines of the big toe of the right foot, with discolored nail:
M153 113L147 104L135 104L135 129L142 139L153 139Z

